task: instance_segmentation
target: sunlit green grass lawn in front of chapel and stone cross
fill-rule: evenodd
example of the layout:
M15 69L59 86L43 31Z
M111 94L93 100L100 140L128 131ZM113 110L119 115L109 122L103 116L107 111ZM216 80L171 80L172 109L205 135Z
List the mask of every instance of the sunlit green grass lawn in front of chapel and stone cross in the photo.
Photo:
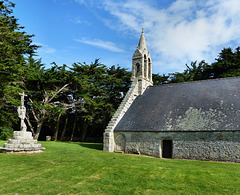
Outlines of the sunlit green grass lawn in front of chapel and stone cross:
M0 153L0 194L240 194L240 164L107 153L102 144L40 143L46 147L41 154Z

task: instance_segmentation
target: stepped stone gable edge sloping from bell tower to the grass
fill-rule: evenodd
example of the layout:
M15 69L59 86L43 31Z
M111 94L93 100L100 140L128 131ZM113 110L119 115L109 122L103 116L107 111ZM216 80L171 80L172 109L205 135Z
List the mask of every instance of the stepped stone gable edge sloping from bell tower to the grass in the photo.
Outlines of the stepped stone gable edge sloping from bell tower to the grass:
M130 89L124 97L122 103L118 107L117 111L113 115L112 119L108 123L104 133L104 151L113 152L114 150L114 137L113 130L117 126L118 122L122 119L128 108L131 106L135 98L138 96L138 81L137 79L132 82Z

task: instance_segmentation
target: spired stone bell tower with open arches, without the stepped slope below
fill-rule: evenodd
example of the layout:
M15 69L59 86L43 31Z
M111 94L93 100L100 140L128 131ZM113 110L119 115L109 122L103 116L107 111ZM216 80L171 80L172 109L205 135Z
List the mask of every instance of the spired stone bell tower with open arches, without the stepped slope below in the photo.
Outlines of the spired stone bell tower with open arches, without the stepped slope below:
M144 29L138 43L138 47L132 58L132 81L138 83L138 94L142 95L148 86L152 86L152 60L147 51Z

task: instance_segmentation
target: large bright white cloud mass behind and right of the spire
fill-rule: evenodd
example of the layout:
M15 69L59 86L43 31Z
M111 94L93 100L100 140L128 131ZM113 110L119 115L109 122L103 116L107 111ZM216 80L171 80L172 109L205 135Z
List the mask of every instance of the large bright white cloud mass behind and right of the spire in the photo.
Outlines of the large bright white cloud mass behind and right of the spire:
M137 37L145 28L155 72L182 71L195 60L212 62L223 47L240 43L239 0L176 0L164 9L159 2L103 0L113 16L108 26Z

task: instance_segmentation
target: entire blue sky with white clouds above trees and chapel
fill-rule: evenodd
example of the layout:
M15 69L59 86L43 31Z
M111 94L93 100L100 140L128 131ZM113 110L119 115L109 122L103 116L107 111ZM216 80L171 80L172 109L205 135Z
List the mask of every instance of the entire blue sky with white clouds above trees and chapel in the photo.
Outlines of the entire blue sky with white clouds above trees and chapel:
M153 72L181 72L240 46L239 0L12 0L14 16L41 45L39 57L71 65L96 58L131 70L144 28Z

